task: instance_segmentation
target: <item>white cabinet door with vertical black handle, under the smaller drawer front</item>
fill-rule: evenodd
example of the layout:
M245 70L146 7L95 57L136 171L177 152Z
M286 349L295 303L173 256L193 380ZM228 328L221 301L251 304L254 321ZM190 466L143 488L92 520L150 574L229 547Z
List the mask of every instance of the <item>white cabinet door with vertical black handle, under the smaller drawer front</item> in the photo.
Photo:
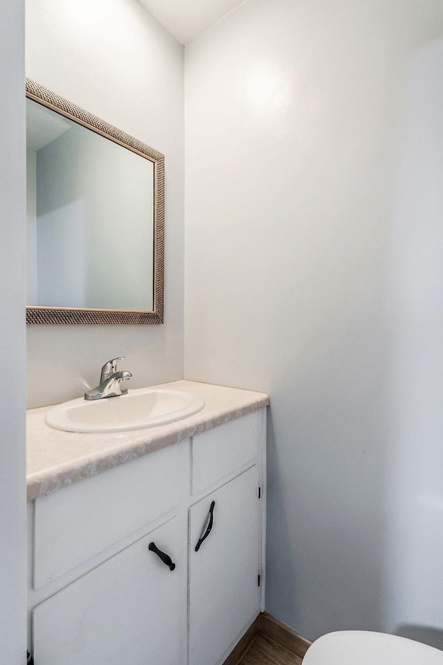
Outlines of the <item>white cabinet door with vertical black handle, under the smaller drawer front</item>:
M219 662L260 609L257 467L190 508L189 663ZM196 552L208 526L213 526Z

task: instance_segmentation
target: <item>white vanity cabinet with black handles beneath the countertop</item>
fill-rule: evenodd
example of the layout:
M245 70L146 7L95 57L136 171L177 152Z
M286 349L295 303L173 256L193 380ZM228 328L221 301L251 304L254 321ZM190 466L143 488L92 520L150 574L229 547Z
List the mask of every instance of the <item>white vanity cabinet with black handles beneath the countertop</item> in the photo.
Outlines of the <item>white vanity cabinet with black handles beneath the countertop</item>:
M35 499L35 665L224 662L264 609L265 432L259 409Z

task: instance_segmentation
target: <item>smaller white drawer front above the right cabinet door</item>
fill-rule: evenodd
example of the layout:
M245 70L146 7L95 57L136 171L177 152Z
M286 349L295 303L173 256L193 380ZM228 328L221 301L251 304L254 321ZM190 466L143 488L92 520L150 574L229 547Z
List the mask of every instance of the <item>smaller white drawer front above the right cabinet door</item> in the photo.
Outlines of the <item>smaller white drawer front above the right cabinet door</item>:
M192 438L192 494L257 459L262 436L262 411Z

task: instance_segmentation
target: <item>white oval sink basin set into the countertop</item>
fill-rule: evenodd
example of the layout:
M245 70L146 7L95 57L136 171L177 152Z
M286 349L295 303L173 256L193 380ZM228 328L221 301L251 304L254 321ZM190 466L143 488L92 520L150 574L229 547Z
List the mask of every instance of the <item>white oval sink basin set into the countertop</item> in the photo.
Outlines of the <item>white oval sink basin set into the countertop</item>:
M138 388L127 395L64 402L46 414L46 425L64 432L127 432L168 425L204 408L197 395L166 388Z

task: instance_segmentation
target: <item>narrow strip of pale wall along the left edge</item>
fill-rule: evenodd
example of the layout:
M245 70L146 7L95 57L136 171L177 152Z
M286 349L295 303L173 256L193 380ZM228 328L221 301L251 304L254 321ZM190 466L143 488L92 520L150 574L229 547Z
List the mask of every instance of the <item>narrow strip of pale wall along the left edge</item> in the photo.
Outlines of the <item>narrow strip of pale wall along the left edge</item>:
M0 20L0 660L26 662L24 6Z

